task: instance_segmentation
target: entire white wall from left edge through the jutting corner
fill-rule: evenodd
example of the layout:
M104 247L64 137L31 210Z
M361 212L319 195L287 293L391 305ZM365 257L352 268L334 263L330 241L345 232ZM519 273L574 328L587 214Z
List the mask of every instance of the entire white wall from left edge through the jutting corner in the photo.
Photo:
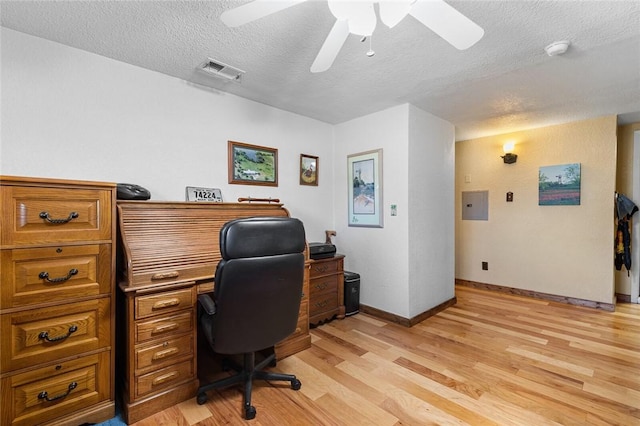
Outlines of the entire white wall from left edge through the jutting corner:
M449 123L402 105L331 126L5 28L1 36L0 173L137 183L154 200L182 201L185 186L221 188L227 201L279 198L309 241L337 231L363 304L412 317L453 297ZM279 186L229 185L228 140L277 148ZM377 148L384 228L348 227L347 155ZM319 157L318 187L299 185L301 153Z

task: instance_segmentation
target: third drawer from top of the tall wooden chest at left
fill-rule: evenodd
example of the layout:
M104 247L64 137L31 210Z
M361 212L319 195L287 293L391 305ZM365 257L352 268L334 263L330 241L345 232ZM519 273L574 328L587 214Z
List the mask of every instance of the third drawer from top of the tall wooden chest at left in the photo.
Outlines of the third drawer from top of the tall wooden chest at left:
M111 304L102 298L2 315L2 371L111 345Z

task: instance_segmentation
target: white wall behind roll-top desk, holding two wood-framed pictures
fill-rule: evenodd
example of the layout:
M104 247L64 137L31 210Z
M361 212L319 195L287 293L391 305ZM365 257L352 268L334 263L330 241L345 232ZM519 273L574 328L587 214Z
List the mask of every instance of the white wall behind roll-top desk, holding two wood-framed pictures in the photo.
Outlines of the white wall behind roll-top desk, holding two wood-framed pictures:
M6 28L1 43L0 173L137 183L155 200L221 188L279 198L310 241L332 229L331 125ZM277 148L278 187L229 185L228 140ZM299 185L301 153L320 157L318 187Z

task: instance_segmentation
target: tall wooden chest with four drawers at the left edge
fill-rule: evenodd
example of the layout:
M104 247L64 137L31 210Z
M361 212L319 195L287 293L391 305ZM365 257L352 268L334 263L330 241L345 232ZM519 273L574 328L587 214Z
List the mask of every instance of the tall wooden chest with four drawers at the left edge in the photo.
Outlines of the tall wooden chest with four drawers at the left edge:
M0 183L0 424L112 418L115 185Z

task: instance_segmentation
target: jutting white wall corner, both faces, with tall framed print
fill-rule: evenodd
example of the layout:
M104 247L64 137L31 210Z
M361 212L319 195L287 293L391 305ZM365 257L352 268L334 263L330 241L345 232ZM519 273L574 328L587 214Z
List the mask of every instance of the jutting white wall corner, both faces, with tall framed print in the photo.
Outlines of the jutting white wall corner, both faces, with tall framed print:
M405 104L337 125L335 137L336 241L360 274L360 303L412 318L451 299L453 126ZM384 227L349 227L347 156L379 148Z

